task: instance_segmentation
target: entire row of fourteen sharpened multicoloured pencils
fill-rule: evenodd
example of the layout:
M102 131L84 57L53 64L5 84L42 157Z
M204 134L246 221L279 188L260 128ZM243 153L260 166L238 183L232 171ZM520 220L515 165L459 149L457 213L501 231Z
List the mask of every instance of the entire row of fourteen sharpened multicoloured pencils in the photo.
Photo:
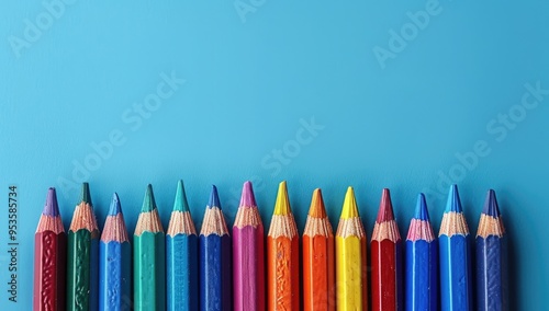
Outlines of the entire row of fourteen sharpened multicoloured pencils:
M35 235L33 307L54 311L368 310L369 306L379 311L508 310L505 229L493 191L481 214L475 256L456 185L450 188L438 238L419 194L405 241L390 192L383 189L370 242L371 265L358 210L349 187L334 234L321 189L315 189L300 253L285 182L279 186L267 239L250 182L244 184L231 233L215 186L197 232L182 182L165 233L148 185L131 243L116 194L100 233L85 183L65 234L55 189L49 188Z

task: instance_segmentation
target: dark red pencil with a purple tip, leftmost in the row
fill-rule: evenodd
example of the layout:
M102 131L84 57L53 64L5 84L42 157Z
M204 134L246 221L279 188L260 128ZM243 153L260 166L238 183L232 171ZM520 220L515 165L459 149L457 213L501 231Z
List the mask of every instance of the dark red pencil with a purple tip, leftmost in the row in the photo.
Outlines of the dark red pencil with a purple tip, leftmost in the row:
M33 310L65 310L67 235L63 228L55 188L47 191L46 204L34 234Z

